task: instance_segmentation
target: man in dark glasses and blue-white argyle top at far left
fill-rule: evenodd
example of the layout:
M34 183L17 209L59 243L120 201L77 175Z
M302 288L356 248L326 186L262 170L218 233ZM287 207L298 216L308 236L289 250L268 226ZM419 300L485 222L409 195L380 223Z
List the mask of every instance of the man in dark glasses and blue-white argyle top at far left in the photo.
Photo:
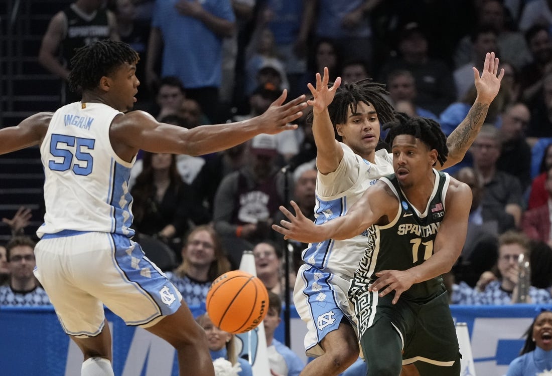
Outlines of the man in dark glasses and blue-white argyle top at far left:
M35 243L28 237L14 237L6 244L10 273L9 284L0 286L0 305L32 307L51 305L46 292L36 280Z

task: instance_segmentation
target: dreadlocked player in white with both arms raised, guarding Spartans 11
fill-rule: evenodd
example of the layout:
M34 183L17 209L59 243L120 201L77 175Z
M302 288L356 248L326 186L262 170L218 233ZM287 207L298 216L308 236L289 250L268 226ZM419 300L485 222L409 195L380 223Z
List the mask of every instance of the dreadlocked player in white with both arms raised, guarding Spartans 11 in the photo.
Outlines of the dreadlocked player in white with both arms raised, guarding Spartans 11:
M449 159L440 168L464 158L479 132L498 93L503 71L498 74L498 58L487 53L481 76L474 69L477 98L463 122L447 139ZM316 88L309 84L313 98L312 133L318 153L315 223L331 221L347 213L364 191L384 175L393 173L392 155L376 151L380 122L395 116L384 99L384 85L370 80L347 83L341 78L328 87L328 70L316 74ZM342 142L336 141L335 132ZM439 166L438 166L439 168ZM305 249L305 264L299 269L294 288L295 307L307 324L305 349L316 357L301 376L338 375L359 356L355 334L354 309L347 291L367 247L366 232L348 240L325 240ZM410 372L405 368L405 374ZM416 374L416 373L414 373Z

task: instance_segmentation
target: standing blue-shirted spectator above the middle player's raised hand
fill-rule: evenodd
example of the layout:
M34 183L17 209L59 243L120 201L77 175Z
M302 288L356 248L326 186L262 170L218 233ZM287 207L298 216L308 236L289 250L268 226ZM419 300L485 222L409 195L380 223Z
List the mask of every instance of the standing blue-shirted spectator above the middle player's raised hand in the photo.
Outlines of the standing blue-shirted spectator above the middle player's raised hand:
M338 46L339 55L371 64L374 57L370 15L381 2L382 0L307 0L302 22L307 30L312 31L315 40L333 40ZM322 74L323 71L316 72ZM337 73L335 71L333 74Z

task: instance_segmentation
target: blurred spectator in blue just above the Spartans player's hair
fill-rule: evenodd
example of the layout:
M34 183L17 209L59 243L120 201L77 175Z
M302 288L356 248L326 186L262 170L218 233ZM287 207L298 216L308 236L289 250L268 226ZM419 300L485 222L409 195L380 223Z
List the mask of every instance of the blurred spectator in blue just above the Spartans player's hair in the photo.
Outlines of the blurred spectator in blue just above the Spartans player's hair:
M390 72L387 78L387 89L395 110L408 114L408 112L402 111L404 108L402 110L397 109L397 104L407 102L413 106L413 111L411 110L412 113L408 116L422 116L435 121L438 120L433 112L416 106L416 80L410 71L397 70Z

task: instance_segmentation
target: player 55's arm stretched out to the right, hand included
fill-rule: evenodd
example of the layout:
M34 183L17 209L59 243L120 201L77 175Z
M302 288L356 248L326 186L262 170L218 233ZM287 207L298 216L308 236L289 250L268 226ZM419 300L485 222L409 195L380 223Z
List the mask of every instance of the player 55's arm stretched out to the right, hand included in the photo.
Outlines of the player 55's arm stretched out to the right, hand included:
M187 130L158 123L146 112L133 111L116 117L110 137L135 149L153 153L201 155L222 151L243 143L259 133L279 133L295 129L291 124L306 107L301 95L284 104L287 92L262 115L235 123L204 125Z

